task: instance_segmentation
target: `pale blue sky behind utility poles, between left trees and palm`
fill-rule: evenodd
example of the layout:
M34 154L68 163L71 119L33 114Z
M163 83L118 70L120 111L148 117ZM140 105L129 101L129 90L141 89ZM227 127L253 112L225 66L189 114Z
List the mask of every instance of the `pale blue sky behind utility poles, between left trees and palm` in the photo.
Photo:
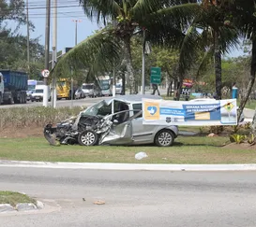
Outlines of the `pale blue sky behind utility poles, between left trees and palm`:
M58 16L57 16L57 50L64 50L66 47L75 46L75 22L78 22L78 43L92 35L98 29L96 22L88 20L83 12L83 8L79 6L79 0L57 0ZM53 2L52 12L53 12ZM35 25L35 31L30 32L31 38L39 37L39 43L45 45L45 24L46 24L46 0L28 0L29 3L29 20ZM14 22L8 24L11 28L15 28ZM50 48L52 50L53 41L53 13L51 15L50 28ZM20 32L26 35L26 26L21 27Z

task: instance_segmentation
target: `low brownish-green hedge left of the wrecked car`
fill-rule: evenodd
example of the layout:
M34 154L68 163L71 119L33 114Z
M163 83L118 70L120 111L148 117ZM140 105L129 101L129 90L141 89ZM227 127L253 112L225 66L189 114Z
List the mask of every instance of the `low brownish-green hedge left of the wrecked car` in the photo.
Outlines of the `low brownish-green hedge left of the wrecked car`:
M81 107L14 107L0 108L0 129L29 126L43 127L79 114Z

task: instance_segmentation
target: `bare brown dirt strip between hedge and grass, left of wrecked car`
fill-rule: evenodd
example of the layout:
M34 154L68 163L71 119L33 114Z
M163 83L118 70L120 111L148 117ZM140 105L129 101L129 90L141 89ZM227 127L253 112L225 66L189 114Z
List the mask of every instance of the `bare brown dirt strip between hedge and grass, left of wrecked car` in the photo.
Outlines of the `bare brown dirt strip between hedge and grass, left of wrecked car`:
M42 127L6 128L0 131L0 138L27 138L43 136Z

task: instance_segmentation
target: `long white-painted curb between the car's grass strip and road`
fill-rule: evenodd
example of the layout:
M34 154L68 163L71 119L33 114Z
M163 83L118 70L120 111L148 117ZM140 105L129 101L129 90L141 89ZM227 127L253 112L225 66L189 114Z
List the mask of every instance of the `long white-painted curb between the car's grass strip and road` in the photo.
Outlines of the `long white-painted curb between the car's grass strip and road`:
M143 170L143 171L255 171L256 163L248 164L144 164L144 163L48 163L0 161L0 167Z

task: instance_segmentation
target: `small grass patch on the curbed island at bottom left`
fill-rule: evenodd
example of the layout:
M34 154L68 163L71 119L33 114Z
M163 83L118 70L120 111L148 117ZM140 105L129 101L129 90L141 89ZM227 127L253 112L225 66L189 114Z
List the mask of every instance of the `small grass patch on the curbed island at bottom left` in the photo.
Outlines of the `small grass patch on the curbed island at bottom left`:
M23 193L0 191L0 204L16 206L20 203L31 203L36 205L36 200Z

